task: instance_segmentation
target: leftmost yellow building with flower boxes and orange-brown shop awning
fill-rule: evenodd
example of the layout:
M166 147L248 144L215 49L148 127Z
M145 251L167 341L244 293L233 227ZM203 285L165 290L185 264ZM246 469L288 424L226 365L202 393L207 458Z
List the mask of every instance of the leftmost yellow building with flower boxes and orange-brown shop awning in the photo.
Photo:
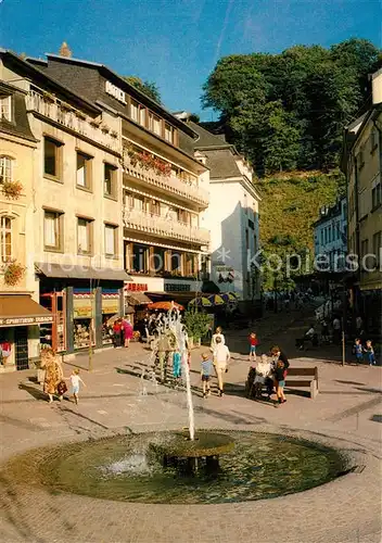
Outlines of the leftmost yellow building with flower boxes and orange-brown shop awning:
M0 50L0 372L39 356L39 326L53 319L38 304L33 242L33 164L37 140L27 121L27 88Z

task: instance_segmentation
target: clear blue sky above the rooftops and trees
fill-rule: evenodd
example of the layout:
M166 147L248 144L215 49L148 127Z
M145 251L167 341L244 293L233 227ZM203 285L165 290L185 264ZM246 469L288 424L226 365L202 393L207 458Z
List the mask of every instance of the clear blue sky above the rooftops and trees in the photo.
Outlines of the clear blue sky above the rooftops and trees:
M328 47L349 37L381 46L380 0L0 0L0 46L58 52L155 81L165 105L202 113L202 85L224 55Z

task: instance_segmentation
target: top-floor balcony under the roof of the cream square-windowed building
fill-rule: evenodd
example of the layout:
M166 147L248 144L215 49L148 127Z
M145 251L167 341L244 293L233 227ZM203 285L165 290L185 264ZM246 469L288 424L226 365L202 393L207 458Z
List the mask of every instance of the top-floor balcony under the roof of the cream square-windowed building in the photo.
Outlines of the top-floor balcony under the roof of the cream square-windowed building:
M113 151L119 151L119 138L115 130L102 124L102 121L88 117L80 110L59 100L53 94L42 94L34 90L26 97L27 112L40 115L59 123L97 143L107 147Z

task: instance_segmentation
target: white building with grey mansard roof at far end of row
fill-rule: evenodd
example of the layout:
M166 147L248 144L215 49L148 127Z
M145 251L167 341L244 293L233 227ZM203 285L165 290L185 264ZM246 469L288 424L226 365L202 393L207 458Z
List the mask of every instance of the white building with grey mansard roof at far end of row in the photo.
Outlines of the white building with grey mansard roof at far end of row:
M259 249L259 194L253 171L235 148L178 113L196 134L182 139L209 168L208 209L203 222L211 231L211 278L220 292L234 292L241 300L258 300L260 280L254 257Z

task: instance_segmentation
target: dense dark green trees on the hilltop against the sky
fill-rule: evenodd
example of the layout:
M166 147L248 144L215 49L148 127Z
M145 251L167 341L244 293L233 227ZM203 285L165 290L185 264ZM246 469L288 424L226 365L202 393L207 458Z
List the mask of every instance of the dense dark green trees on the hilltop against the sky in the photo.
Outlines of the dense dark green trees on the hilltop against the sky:
M220 113L228 141L257 173L329 171L338 164L344 125L370 96L368 75L380 65L381 50L364 39L225 56L202 102Z

